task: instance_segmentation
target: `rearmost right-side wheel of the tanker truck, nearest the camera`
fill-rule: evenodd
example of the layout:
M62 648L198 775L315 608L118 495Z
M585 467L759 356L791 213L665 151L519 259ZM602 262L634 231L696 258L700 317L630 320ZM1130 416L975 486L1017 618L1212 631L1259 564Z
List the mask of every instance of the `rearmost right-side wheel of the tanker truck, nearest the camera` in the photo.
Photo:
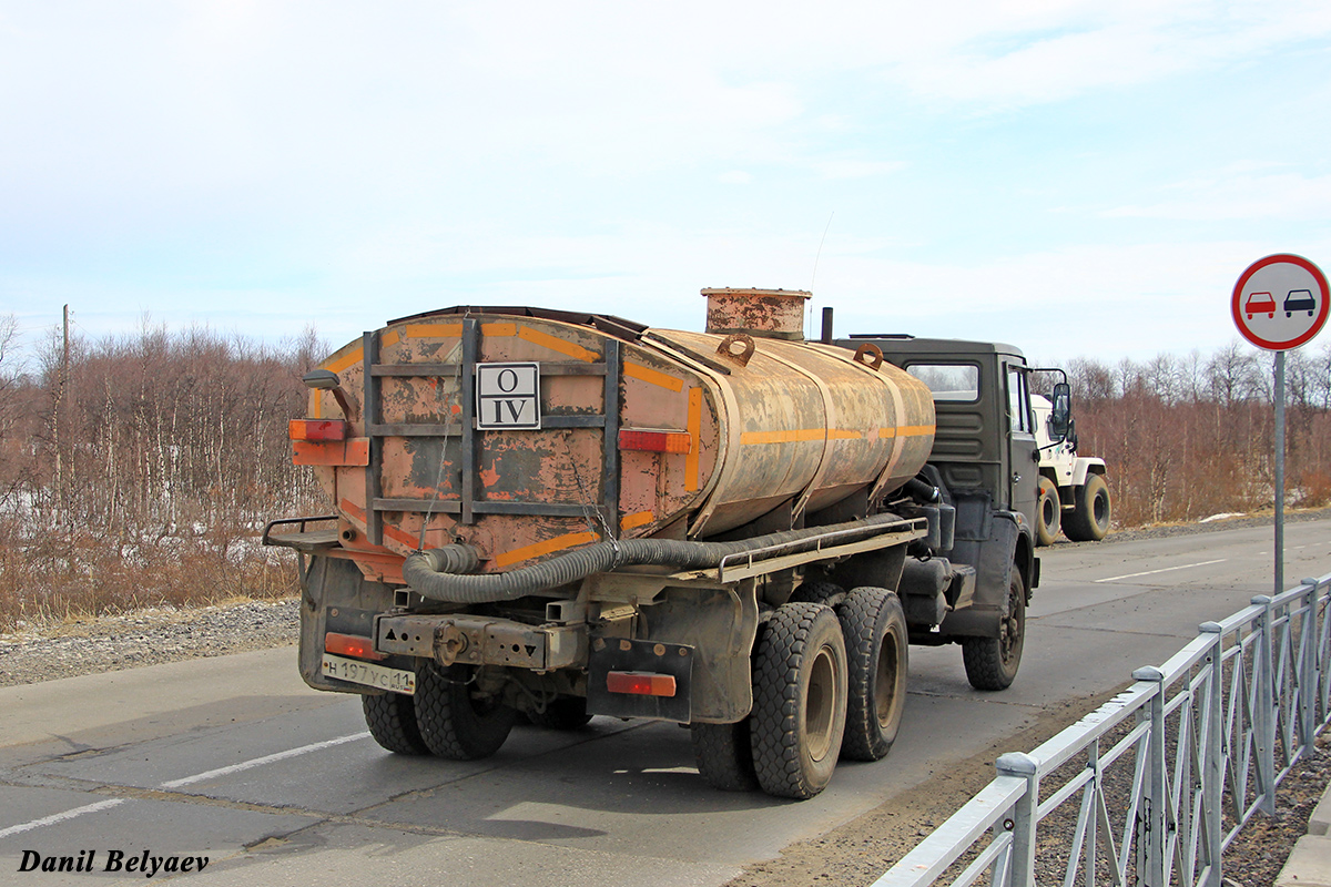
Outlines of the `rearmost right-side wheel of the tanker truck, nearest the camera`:
M805 799L832 781L845 733L845 641L823 604L787 604L753 649L753 767L779 798Z

